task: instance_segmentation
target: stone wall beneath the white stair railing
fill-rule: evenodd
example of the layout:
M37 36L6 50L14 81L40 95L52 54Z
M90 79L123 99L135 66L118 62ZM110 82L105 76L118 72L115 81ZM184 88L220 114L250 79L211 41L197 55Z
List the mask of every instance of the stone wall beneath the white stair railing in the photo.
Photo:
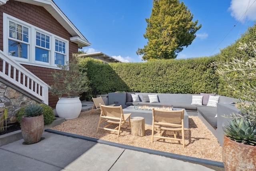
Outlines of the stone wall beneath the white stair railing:
M30 97L0 82L0 116L8 109L7 124L17 121L17 112L21 107L37 103ZM5 121L4 121L5 124Z

